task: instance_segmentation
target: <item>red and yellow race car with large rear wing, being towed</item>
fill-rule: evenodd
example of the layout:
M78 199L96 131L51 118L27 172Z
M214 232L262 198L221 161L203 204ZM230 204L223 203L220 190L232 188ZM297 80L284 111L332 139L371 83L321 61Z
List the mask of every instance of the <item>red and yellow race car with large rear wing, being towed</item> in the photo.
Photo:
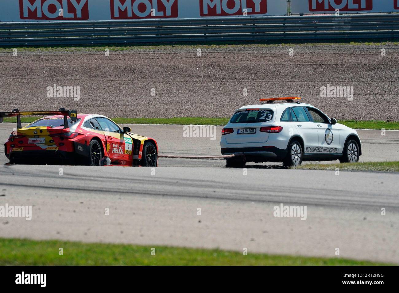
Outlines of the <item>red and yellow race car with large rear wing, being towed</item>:
M23 115L43 118L22 127ZM45 112L15 109L0 112L0 123L15 116L17 128L4 144L10 163L158 166L156 140L132 134L129 127L122 128L105 116L77 114L64 108Z

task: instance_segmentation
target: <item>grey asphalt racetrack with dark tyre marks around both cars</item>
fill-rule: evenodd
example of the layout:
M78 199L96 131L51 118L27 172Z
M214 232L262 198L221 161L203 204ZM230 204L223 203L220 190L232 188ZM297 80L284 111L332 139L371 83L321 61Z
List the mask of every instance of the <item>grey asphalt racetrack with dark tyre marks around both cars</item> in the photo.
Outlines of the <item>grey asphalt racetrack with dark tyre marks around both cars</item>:
M0 124L0 138L14 127ZM165 155L219 155L220 129L211 141L183 138L183 126L132 126L156 138ZM361 161L399 160L398 131L358 132ZM6 162L2 155L0 205L32 205L32 220L2 218L0 237L247 248L399 264L398 173L336 176L265 164L248 166L244 175L223 160L188 159L160 159L155 169ZM306 217L273 216L280 204L306 206Z

